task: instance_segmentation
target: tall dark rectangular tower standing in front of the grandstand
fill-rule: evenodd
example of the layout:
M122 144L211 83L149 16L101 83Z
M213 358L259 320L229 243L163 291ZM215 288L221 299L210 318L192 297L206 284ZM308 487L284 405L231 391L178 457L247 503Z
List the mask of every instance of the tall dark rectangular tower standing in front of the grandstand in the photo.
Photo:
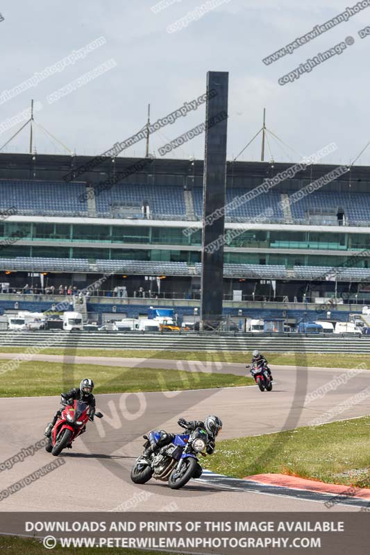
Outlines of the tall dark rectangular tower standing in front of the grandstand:
M201 322L221 319L224 273L228 72L208 71L203 176ZM224 115L224 119L221 119ZM220 119L220 121L218 121ZM218 123L215 123L218 121ZM211 214L217 216L211 218ZM211 219L213 220L211 222ZM221 240L220 240L221 238ZM219 239L216 244L215 241Z

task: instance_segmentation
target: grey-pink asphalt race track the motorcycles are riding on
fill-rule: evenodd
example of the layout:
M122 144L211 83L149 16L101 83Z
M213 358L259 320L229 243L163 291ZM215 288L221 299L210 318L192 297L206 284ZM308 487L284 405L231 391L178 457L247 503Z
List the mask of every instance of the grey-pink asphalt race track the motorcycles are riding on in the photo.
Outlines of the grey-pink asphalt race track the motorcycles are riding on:
M3 353L1 359L17 354ZM70 358L70 360L69 360ZM163 368L244 375L244 364L161 359L123 359L69 355L33 355L33 360L65 364L101 364L131 368ZM96 406L105 418L89 423L72 450L58 457L64 464L0 502L0 511L327 511L325 494L257 486L204 472L183 490L170 490L165 482L144 486L131 482L130 471L142 452L142 434L149 429L178 431L177 420L202 419L215 413L224 422L221 439L274 434L312 425L315 418L335 409L370 386L364 370L325 395L307 402L307 395L323 388L348 370L273 366L274 389L261 393L256 386L160 393L96 394ZM81 377L76 376L76 381ZM338 382L339 383L339 382ZM35 444L59 407L59 397L1 398L3 434L0 463ZM348 408L327 421L366 416L369 401L348 403ZM15 484L57 459L37 450L11 469L0 472L0 490ZM346 487L344 486L345 490ZM362 502L364 503L364 502ZM358 511L360 501L337 504L335 511Z

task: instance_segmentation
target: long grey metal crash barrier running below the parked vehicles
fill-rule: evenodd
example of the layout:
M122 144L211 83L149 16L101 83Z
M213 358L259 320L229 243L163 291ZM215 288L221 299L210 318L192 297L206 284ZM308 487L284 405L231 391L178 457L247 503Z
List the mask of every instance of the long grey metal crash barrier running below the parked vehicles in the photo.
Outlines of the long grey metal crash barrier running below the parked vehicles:
M0 332L2 347L31 347L51 339L55 332ZM199 351L336 352L367 353L367 335L233 334L233 333L140 333L65 332L55 348L153 349Z

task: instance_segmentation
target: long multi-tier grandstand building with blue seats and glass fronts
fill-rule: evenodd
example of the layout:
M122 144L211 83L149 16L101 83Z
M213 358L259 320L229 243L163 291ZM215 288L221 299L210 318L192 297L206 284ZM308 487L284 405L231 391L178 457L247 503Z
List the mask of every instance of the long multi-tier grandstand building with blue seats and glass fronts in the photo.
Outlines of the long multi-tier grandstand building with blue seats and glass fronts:
M90 160L0 155L0 282L22 290L44 274L56 290L83 288L112 273L101 286L105 296L124 286L133 298L142 287L146 297L199 304L203 162L155 159L119 179L137 159L107 158L81 173ZM240 291L242 302L313 302L336 291L346 292L346 302L366 300L370 167L348 168L290 205L289 196L335 169L312 165L228 210L290 165L227 164L224 299Z

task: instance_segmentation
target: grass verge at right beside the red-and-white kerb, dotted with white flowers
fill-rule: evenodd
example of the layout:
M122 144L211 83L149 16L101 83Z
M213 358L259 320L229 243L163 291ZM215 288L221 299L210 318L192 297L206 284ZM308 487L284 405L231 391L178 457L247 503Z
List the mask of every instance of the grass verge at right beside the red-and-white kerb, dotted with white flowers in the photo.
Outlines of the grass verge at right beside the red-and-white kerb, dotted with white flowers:
M244 478L267 472L356 485L369 466L370 416L217 442L206 468ZM355 470L364 472L354 472ZM339 476L342 473L348 475ZM358 475L356 475L358 474ZM364 484L362 484L364 487ZM367 487L370 487L370 477Z

